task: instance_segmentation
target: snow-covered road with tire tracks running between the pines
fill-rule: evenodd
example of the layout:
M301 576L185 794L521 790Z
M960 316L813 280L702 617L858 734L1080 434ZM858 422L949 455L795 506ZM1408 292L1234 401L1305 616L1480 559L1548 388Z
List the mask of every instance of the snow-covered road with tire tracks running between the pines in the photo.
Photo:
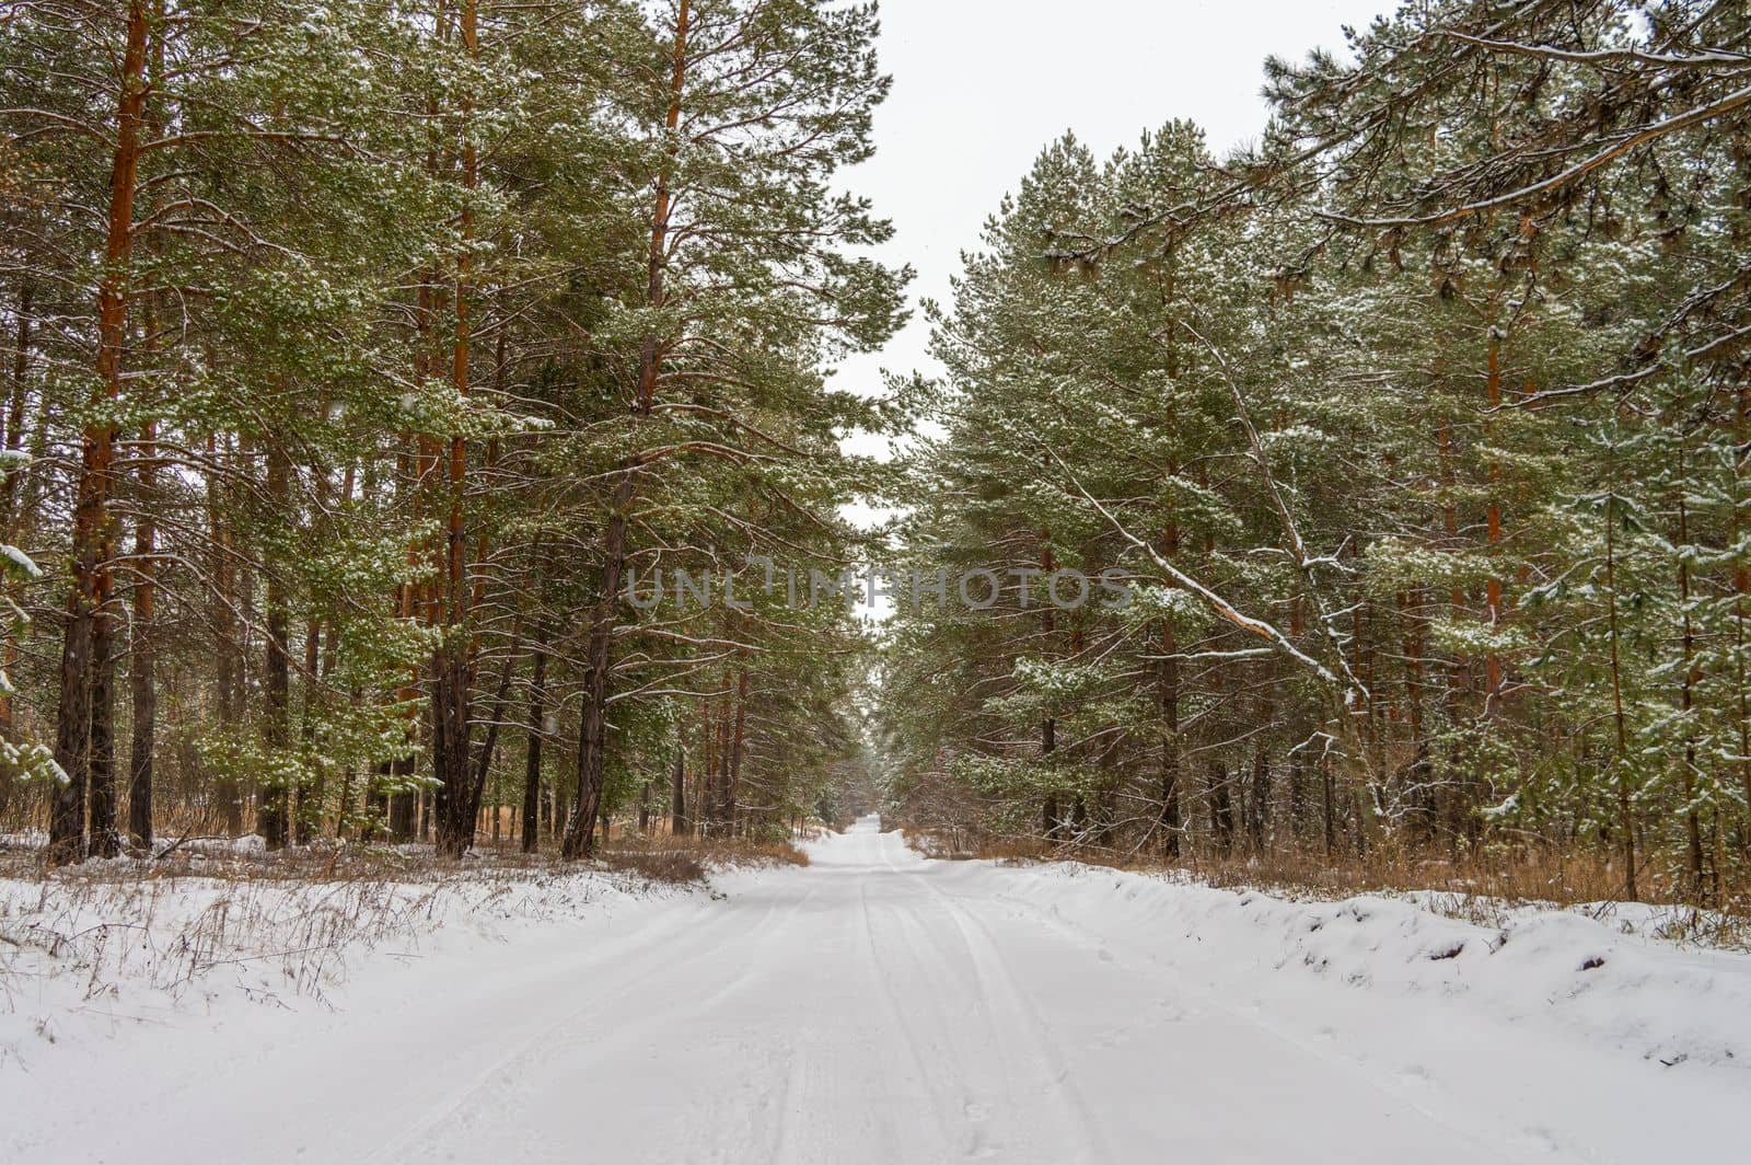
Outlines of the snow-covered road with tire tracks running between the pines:
M1122 897L1059 881L1084 883L1075 902ZM1355 990L1042 885L926 862L865 820L807 869L730 876L721 900L385 965L338 1013L245 1014L217 1025L231 1039L133 1039L81 1081L98 1119L61 1086L60 1102L14 1091L28 1109L0 1107L35 1123L35 1160L130 1165L1457 1165L1742 1147L1742 1069L1669 1069L1478 999Z

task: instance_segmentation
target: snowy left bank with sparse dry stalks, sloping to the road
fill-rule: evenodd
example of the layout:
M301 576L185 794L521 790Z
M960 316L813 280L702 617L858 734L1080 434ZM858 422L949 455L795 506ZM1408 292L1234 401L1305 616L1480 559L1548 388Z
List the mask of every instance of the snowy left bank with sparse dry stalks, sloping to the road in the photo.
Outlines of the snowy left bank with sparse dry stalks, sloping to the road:
M597 871L294 881L145 878L128 858L103 865L114 871L0 879L0 1074L53 1044L110 1041L177 1016L333 1009L334 990L366 964L392 969L499 944L534 923L685 895Z

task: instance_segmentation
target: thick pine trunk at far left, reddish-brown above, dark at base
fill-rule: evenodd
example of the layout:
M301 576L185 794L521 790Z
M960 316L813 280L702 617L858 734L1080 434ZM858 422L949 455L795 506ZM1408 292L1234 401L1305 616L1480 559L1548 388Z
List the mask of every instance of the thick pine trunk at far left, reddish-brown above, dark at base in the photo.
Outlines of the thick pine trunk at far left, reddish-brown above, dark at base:
M128 284L133 259L133 208L140 177L140 126L145 114L147 0L130 0L116 95L116 147L110 159L109 214L103 270L98 275L96 399L121 396L123 349L128 342ZM110 533L110 477L116 429L91 422L81 436L79 480L74 505L74 587L61 639L61 692L56 713L54 759L68 781L54 790L49 813L49 858L84 857L86 787L109 780L114 813L114 773L105 773L100 750L109 745L110 687L102 678L110 657L105 611L116 587ZM102 790L98 794L103 795ZM114 832L110 822L110 832ZM107 846L109 839L100 841Z

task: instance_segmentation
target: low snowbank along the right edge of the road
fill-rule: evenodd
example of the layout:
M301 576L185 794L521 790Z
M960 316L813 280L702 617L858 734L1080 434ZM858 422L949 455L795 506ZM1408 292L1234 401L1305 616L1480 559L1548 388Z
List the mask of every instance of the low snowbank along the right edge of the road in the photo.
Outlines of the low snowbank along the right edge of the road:
M1375 999L1448 997L1669 1067L1751 1067L1751 955L1649 937L1655 911L1607 925L1518 907L1481 927L1376 895L1292 902L1086 865L1010 872L1014 900L1115 944L1152 936L1152 957L1201 969L1219 992L1247 978L1238 992L1324 981Z

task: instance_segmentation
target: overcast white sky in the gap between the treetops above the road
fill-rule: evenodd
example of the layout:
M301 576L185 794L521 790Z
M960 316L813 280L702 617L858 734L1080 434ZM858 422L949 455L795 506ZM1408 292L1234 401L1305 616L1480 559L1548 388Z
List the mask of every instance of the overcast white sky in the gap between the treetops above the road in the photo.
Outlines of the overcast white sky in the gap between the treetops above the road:
M946 301L960 252L1045 144L1065 130L1103 158L1145 128L1191 117L1217 154L1264 124L1261 65L1343 46L1396 0L881 0L881 63L893 93L876 112L876 158L849 189L893 219L890 263L918 268L919 298ZM881 391L881 370L930 370L912 324L835 384ZM879 440L847 448L877 452Z

